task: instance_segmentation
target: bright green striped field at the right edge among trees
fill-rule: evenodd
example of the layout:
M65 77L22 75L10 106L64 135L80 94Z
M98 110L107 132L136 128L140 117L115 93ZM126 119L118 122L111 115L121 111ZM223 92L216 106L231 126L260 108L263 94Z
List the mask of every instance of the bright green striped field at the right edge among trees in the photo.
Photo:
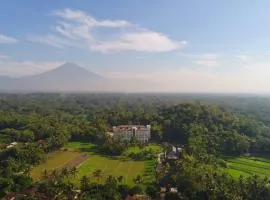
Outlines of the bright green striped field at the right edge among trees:
M226 169L233 177L259 175L270 178L270 157L226 157Z

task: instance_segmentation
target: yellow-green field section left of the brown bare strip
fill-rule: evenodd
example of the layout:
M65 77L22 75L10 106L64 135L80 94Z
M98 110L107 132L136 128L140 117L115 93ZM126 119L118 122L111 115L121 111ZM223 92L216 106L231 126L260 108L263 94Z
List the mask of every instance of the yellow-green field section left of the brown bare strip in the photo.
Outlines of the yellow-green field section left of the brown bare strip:
M68 163L68 161L72 160L78 155L80 155L80 153L71 151L58 151L51 153L46 158L45 163L38 165L31 170L30 175L35 181L37 181L41 178L45 169L51 171L56 168L61 168L61 166L64 166Z

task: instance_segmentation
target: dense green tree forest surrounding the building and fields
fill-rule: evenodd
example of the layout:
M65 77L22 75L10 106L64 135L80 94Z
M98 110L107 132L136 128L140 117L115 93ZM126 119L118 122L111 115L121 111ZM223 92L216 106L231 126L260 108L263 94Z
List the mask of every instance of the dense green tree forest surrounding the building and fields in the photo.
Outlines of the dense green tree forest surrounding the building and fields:
M175 194L168 193L167 199L269 199L267 178L236 180L220 170L226 163L218 158L269 153L270 103L263 99L258 104L248 97L174 94L2 94L0 196L32 185L31 167L69 140L98 143L103 153L119 155L127 144L110 142L106 131L113 125L150 124L153 141L186 148L185 156L157 178L162 184L169 180L168 184L177 185L182 194L173 197ZM7 148L11 142L17 145ZM137 160L147 156L155 157L152 152L130 155ZM69 196L75 189L56 176L44 180L41 188L50 197L59 191ZM81 199L93 195L97 199L121 199L142 190L136 186L128 188L117 177L107 177L105 184L83 177ZM147 186L144 193L156 198L157 185Z

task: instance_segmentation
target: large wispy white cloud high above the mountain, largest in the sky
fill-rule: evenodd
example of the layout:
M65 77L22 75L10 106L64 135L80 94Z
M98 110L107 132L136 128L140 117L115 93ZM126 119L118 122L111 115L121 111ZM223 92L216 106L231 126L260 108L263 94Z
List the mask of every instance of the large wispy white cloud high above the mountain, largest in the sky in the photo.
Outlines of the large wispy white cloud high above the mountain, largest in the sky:
M80 10L57 10L51 15L58 18L53 33L30 36L28 40L57 48L79 47L97 52L167 52L187 44L126 20L96 19Z

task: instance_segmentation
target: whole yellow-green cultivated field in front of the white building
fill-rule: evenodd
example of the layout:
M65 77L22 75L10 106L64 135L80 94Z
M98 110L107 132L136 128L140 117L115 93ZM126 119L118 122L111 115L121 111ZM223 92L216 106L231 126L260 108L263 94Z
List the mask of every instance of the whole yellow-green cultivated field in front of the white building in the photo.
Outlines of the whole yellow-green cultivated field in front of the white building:
M146 148L160 151L161 147L151 145ZM93 151L95 145L91 143L70 142L65 145L63 150L48 155L47 161L31 170L31 176L34 180L39 180L43 171L46 169L60 169L61 167L77 166L78 174L74 179L75 184L79 184L82 176L90 176L91 181L97 181L92 173L100 169L102 171L102 179L104 181L108 175L123 176L123 183L133 185L134 178L141 175L143 182L151 182L155 180L155 162L149 161L133 161L127 160L124 156L110 157L97 154ZM132 147L128 152L137 152L143 149Z

